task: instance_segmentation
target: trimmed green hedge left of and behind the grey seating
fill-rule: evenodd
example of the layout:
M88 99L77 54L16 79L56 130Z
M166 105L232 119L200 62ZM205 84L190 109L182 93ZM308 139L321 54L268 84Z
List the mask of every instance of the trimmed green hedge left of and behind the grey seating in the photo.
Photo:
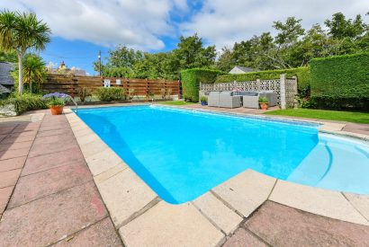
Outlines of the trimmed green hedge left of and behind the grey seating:
M183 97L185 101L199 101L200 83L213 83L218 75L224 74L219 70L191 68L181 71Z

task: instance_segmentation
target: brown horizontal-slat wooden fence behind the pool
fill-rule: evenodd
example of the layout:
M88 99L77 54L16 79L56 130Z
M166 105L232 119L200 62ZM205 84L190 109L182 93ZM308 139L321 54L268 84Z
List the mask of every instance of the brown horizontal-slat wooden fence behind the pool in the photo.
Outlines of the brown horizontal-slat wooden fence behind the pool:
M49 74L46 83L42 84L42 91L45 93L67 93L71 96L78 95L79 88L87 88L90 93L95 94L98 87L103 86L105 79L110 80L111 86L119 86L129 92L134 90L135 96L147 96L148 93L160 95L162 89L171 92L171 95L178 95L180 98L180 82L165 80L112 78L99 76L80 76L80 75L57 75ZM118 81L118 84L117 84ZM120 82L120 84L119 84Z

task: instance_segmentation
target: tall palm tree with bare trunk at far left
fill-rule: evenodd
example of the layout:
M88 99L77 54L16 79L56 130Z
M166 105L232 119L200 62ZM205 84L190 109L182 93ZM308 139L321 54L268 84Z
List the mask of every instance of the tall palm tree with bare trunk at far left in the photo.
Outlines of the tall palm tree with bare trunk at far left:
M19 93L23 93L23 57L28 49L42 50L50 40L49 26L35 13L0 13L0 49L15 50L18 56Z

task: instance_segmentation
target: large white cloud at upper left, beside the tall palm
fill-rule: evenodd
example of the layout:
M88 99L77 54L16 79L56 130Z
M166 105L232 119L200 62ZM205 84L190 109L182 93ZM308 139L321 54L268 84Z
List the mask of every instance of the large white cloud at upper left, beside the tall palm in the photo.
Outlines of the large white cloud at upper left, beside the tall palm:
M187 11L185 0L13 0L2 4L9 10L37 13L53 35L67 40L136 49L163 49L159 37L175 33L170 13Z

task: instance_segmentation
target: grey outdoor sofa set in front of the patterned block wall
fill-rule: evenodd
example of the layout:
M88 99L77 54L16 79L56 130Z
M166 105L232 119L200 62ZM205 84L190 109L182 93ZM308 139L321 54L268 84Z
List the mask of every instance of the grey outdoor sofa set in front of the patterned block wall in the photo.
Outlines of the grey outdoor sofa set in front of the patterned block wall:
M277 105L277 95L274 91L211 91L208 105L223 108L259 108L260 98L266 98L269 107Z

